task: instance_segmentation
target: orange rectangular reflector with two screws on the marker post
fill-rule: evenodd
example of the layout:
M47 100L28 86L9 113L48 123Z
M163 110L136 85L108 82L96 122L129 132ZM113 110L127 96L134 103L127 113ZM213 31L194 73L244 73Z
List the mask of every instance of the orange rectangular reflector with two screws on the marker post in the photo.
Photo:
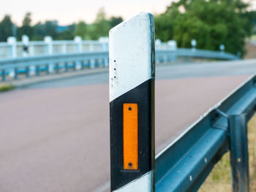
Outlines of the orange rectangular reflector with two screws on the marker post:
M138 169L138 104L123 104L124 169Z

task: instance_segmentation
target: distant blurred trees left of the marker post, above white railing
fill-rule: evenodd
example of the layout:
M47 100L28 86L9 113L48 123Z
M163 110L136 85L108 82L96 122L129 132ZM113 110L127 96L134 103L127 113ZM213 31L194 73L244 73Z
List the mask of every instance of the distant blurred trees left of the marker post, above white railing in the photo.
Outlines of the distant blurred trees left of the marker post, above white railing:
M59 26L56 20L39 22L33 26L31 13L28 12L23 18L22 26L19 27L12 23L10 15L5 15L0 23L0 42L6 42L11 36L20 40L23 34L26 34L31 41L42 40L45 36L50 36L55 40L74 39L75 36L80 36L82 39L99 39L99 37L108 36L110 28L122 21L121 17L107 18L103 8L99 9L94 23L87 24L80 20L69 26Z

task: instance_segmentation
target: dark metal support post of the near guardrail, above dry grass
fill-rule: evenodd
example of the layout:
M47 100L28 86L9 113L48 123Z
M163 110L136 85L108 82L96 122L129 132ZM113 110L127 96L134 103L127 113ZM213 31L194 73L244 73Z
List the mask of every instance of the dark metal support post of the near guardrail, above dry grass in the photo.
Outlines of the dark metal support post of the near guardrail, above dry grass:
M246 114L230 115L228 120L233 192L249 192Z

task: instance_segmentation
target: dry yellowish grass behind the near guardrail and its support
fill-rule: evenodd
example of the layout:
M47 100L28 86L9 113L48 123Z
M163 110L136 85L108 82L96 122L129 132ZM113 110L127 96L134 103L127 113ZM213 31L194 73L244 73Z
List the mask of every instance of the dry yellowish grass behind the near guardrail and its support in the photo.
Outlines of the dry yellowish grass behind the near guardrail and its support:
M256 191L256 115L248 123L250 191ZM232 191L230 153L223 155L199 189L200 192Z

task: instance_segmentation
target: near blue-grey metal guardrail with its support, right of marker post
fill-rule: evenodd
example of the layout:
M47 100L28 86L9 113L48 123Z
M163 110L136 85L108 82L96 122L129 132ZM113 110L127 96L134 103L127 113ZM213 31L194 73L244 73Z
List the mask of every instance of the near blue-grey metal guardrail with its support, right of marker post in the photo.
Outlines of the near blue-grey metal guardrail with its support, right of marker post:
M233 191L249 191L246 124L255 113L251 77L156 157L156 191L197 191L230 150Z

